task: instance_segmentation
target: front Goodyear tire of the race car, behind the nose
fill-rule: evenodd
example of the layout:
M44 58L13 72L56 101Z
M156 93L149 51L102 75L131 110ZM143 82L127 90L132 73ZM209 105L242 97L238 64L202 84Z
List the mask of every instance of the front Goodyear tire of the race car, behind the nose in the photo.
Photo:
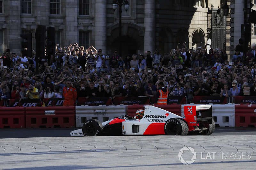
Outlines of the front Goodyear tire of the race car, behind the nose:
M83 125L84 136L100 136L103 129L102 123L97 119L90 119Z

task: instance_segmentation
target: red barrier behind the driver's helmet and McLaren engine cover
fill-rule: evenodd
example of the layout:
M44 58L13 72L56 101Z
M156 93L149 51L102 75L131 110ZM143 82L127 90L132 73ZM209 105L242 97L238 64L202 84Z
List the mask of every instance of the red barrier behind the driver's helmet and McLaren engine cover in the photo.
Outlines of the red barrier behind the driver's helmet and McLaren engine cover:
M136 111L138 109L144 109L144 106L147 106L147 105L139 105L139 104L128 105L128 107L127 107L127 115L134 117ZM181 105L177 105L177 104L157 105L157 104L154 104L154 106L155 107L159 107L159 108L164 109L164 110L167 110L169 112L172 112L175 115L181 116Z

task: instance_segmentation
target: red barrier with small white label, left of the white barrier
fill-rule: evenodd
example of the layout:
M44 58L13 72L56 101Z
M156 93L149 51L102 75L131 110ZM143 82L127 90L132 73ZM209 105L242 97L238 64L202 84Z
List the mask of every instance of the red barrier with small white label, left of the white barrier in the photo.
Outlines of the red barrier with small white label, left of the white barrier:
M26 107L26 128L76 127L76 107Z

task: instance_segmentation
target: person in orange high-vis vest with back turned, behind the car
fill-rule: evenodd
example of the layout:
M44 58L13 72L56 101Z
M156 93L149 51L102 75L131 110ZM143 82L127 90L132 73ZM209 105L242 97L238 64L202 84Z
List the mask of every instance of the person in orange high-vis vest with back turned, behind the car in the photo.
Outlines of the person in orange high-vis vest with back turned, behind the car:
M158 83L158 89L156 92L156 101L155 103L159 105L167 105L167 98L169 91L164 87L163 82Z

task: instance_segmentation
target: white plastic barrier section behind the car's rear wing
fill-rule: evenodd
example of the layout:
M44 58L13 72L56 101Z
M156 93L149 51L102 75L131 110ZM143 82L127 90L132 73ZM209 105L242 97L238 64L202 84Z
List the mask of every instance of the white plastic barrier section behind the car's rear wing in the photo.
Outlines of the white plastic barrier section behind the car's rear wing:
M199 104L181 105L181 117L185 118L184 106L196 106ZM235 105L212 105L212 118L220 127L235 127Z

